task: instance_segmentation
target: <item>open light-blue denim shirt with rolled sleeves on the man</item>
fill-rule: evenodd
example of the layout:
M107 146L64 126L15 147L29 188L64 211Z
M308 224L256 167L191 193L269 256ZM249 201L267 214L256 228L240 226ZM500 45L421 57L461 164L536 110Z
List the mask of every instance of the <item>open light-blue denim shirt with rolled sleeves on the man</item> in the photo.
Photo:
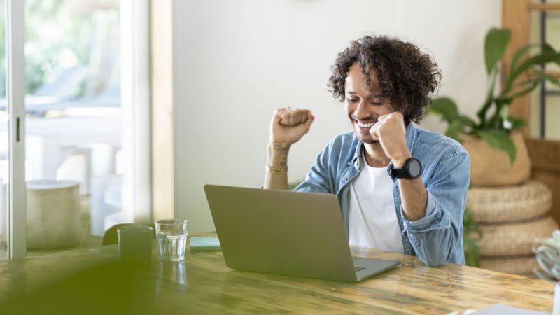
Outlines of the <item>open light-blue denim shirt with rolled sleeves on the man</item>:
M405 254L428 266L445 262L463 265L463 211L470 180L470 157L457 141L409 123L407 146L422 163L421 179L428 190L426 216L409 221L402 212L398 181L393 181L397 221ZM318 155L297 191L337 195L349 229L349 183L360 172L362 143L353 132L339 134ZM388 175L387 175L388 176Z

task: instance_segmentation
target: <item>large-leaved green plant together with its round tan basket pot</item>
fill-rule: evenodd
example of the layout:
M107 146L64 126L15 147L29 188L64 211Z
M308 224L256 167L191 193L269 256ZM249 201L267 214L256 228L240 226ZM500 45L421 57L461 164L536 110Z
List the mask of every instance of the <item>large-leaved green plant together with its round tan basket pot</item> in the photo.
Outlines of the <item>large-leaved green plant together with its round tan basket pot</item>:
M509 115L509 105L515 98L534 90L543 80L560 85L559 80L542 71L544 64L560 64L560 53L546 43L519 48L509 69L504 69L499 61L510 38L509 29L493 28L486 34L484 57L489 83L477 120L461 115L449 97L433 99L427 109L428 113L447 121L445 134L460 141L469 152L471 181L475 186L512 185L528 179L531 162L521 132L515 132L525 123ZM531 54L531 50L539 52ZM503 87L496 89L500 75Z

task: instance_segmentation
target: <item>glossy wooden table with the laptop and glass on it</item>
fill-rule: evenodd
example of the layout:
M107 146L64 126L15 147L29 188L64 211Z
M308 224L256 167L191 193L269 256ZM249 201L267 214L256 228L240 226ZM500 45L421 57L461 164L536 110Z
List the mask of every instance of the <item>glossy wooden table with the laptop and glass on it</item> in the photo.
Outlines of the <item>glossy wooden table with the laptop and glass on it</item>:
M155 243L155 241L154 241ZM0 263L0 314L447 314L507 304L552 311L554 285L473 267L425 267L414 257L360 283L228 269L221 251L185 262L123 266L116 245Z

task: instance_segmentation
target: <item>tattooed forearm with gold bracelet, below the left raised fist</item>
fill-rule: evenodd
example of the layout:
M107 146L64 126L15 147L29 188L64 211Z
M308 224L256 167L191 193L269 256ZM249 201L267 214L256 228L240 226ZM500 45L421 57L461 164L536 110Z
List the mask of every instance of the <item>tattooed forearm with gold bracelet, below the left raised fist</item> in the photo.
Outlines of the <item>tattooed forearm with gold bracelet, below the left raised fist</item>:
M267 169L265 170L265 189L286 190L288 187L288 151L290 146L281 143L268 145ZM281 172L270 172L268 167L272 167Z

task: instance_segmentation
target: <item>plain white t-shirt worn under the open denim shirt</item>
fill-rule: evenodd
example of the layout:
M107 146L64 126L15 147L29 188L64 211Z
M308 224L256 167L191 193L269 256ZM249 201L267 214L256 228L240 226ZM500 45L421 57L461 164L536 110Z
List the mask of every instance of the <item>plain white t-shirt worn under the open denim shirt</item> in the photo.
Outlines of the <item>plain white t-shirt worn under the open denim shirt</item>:
M350 185L350 244L403 253L393 180L387 174L387 167L370 167L362 155L360 174Z

